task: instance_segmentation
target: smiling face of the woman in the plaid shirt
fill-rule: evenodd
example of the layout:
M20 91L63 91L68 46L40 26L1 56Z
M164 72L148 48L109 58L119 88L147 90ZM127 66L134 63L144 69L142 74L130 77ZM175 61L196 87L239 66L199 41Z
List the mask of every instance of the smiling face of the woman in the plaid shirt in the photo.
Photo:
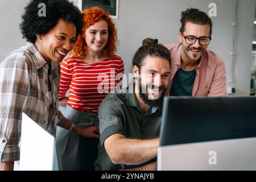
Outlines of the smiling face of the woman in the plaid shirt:
M48 63L60 63L72 50L75 41L75 24L60 19L46 35L36 35L35 46Z

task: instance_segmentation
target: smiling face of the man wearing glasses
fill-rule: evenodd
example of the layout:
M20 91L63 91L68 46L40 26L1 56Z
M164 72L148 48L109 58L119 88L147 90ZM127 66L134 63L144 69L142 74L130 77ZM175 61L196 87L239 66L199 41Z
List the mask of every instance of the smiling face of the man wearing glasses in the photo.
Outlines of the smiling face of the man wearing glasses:
M199 44L198 39L195 44L189 45L185 42L184 36L195 36L196 38L210 37L210 25L187 22L185 24L185 31L179 33L179 41L182 43L181 59L188 62L196 62L200 59L208 46Z

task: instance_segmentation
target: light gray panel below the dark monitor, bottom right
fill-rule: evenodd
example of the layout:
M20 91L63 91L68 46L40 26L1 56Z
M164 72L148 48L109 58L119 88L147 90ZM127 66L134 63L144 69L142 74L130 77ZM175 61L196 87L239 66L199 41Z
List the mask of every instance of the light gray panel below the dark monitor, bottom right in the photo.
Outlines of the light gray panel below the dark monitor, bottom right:
M256 138L158 148L158 170L256 170Z

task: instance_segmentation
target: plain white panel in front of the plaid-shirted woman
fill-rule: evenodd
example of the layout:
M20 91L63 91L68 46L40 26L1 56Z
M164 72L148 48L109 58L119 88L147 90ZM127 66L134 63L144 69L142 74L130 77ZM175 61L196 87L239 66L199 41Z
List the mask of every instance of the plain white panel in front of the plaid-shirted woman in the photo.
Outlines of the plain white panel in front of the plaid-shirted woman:
M22 133L20 137L19 170L51 171L55 152L55 137L22 113Z

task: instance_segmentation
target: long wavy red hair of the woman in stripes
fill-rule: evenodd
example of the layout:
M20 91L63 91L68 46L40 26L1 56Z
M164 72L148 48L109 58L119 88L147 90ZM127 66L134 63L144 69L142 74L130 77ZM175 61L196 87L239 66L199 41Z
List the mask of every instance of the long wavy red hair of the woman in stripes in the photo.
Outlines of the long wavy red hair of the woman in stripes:
M115 25L112 22L112 19L109 17L109 14L98 7L85 9L82 11L82 14L84 19L84 27L82 28L82 34L77 37L76 43L71 52L72 55L76 55L79 57L86 55L86 49L87 49L87 45L85 42L86 28L89 28L91 25L93 25L96 22L99 22L100 20L105 20L108 23L109 38L103 51L106 56L108 57L113 56L117 50L117 47L116 47L117 30L115 29Z

